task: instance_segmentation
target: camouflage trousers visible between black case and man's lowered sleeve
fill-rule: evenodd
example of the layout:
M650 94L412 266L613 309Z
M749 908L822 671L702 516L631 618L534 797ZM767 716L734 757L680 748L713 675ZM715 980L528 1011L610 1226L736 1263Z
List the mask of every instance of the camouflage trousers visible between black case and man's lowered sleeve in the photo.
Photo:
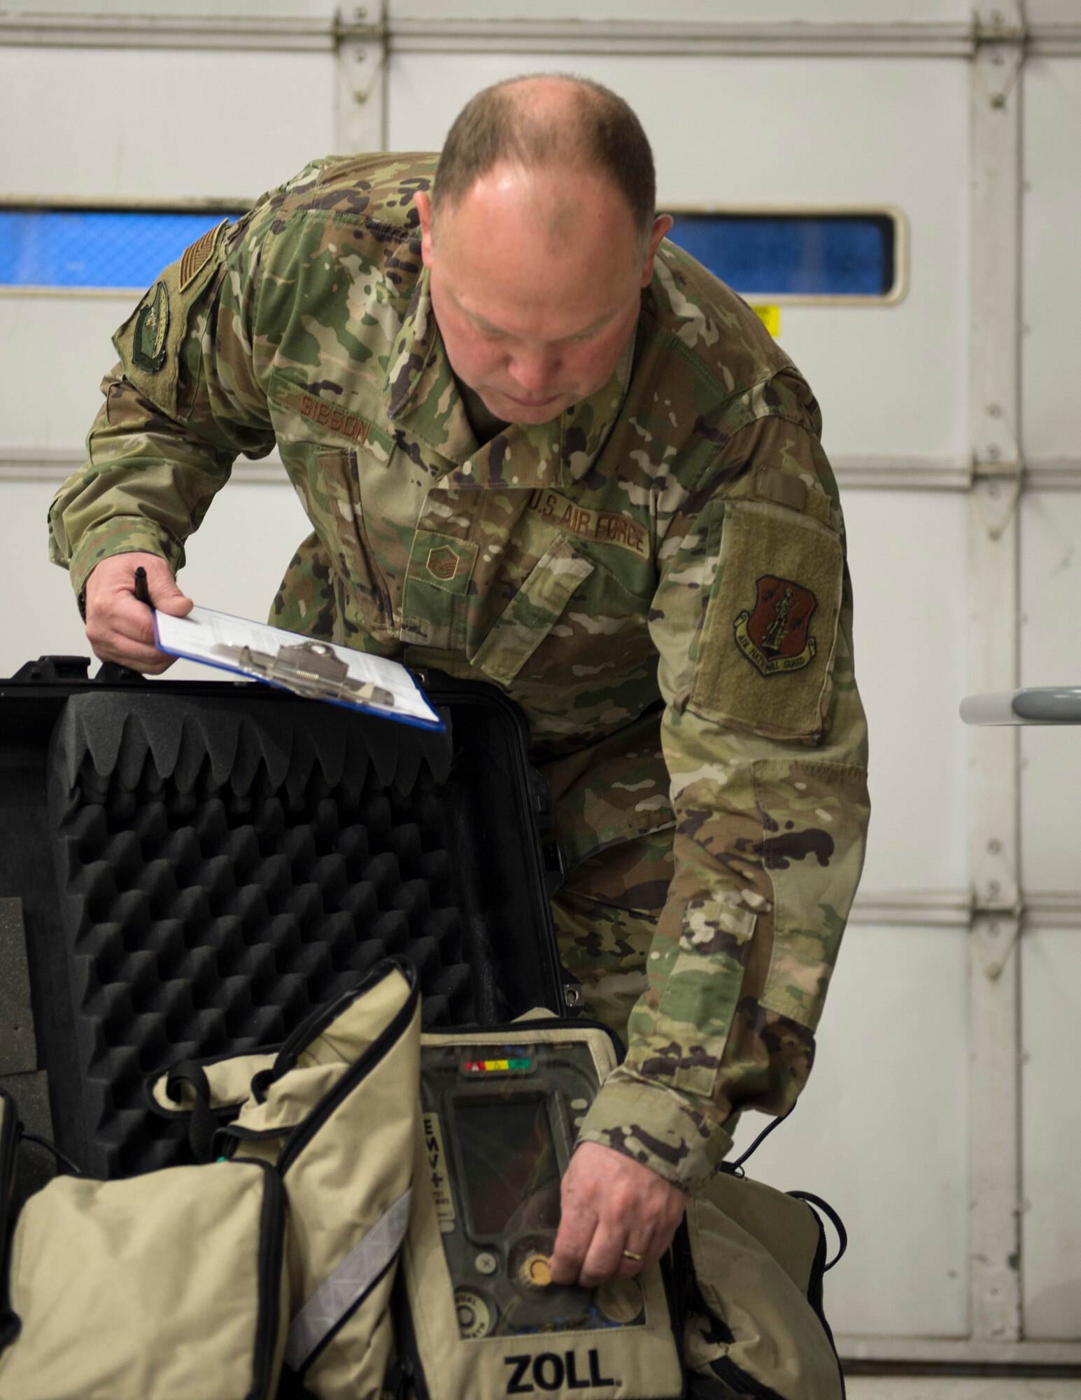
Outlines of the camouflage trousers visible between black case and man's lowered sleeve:
M563 966L581 983L588 1014L625 1044L671 878L669 827L583 861L552 900Z

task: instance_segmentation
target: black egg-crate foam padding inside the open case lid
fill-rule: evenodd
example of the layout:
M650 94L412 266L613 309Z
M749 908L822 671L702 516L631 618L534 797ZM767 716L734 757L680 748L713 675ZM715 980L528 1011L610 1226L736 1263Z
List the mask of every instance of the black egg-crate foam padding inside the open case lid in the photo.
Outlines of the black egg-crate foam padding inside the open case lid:
M77 1074L53 1082L59 1145L99 1177L189 1161L147 1079L283 1040L386 955L426 1025L497 1018L461 763L452 729L312 701L73 694L46 776Z

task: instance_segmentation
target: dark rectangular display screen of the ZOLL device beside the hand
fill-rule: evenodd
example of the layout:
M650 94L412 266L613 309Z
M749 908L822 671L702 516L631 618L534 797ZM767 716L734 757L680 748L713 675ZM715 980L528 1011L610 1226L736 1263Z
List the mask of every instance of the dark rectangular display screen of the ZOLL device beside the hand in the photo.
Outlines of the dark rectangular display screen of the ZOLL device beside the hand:
M473 1233L555 1228L559 1162L545 1098L461 1098L454 1117Z

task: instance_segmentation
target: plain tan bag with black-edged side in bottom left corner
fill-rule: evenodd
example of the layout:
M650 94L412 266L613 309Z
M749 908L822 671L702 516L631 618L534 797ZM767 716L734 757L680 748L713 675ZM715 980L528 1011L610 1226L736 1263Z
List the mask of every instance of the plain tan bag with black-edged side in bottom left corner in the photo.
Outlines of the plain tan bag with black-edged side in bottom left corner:
M18 1123L0 1091L0 1239ZM59 1176L10 1242L4 1400L270 1400L286 1343L284 1190L260 1162Z

